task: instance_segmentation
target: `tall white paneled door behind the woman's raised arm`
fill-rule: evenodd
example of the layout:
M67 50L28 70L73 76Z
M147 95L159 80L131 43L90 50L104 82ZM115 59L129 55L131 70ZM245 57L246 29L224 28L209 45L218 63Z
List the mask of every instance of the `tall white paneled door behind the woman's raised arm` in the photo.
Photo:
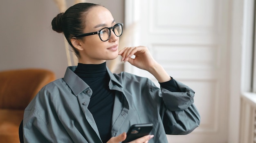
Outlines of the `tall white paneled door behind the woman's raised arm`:
M195 91L200 127L169 143L226 143L228 0L126 0L130 45L146 45L170 76ZM125 71L157 81L125 63Z

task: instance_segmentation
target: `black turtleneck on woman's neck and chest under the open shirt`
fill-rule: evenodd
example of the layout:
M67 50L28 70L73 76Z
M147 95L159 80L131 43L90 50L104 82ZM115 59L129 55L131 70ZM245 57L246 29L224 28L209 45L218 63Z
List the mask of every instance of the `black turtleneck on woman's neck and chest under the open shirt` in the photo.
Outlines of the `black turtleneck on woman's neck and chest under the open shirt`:
M115 100L115 91L110 90L106 62L93 65L78 63L75 74L85 81L92 89L92 96L88 105L97 124L103 143L111 137L111 119Z

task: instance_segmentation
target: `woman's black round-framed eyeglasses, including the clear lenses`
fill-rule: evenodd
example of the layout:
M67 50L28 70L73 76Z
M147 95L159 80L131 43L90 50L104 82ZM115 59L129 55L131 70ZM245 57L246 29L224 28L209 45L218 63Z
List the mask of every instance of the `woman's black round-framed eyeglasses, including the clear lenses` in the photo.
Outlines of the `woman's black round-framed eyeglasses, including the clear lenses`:
M89 36L89 35L98 34L101 41L108 41L110 39L111 29L113 29L112 31L115 33L115 35L117 37L119 37L123 33L123 26L124 26L124 24L117 23L112 27L109 27L109 28L105 27L105 28L102 28L101 30L96 31L96 32L90 32L90 33L84 33L84 34L76 35L76 36L74 36L74 38L79 38L79 37L85 37L85 36Z

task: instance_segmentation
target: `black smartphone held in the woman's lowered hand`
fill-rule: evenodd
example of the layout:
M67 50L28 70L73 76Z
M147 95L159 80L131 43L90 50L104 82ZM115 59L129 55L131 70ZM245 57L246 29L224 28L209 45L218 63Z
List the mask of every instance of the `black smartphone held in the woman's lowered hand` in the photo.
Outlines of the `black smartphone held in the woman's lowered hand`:
M127 137L122 143L127 143L148 135L153 129L153 124L134 124L130 126Z

